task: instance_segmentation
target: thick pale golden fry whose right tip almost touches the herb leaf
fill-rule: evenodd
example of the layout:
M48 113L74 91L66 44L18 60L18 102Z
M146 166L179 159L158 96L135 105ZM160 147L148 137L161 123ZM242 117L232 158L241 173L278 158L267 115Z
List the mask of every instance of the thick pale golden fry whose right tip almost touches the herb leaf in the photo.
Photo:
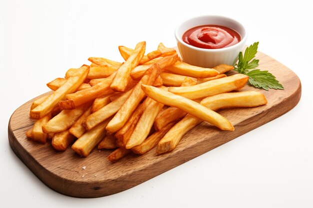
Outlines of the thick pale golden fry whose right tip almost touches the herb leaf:
M249 77L247 75L234 74L193 86L170 87L168 91L193 100L219 93L230 92L232 90L238 90L245 85L248 79Z

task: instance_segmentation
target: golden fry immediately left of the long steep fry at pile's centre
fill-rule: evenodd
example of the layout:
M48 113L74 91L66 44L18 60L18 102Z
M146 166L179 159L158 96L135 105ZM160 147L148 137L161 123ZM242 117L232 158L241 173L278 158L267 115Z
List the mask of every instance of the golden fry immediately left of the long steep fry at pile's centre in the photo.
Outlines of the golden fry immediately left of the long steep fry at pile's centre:
M101 109L95 111L94 113L90 114L86 120L83 122L83 126L86 130L90 130L93 127L97 126L108 117L114 115L120 107L124 104L124 102L128 99L129 95L131 94L132 90L123 93L119 98L116 100L108 103Z

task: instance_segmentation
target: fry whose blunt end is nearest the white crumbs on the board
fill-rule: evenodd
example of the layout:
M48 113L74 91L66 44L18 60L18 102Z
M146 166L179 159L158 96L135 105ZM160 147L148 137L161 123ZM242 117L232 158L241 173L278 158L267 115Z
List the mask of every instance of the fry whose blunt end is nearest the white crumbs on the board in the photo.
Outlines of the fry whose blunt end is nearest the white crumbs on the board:
M85 132L79 137L76 142L71 146L71 149L77 154L87 157L90 152L98 145L106 134L105 127L110 121L110 118L103 123L94 127L90 131Z

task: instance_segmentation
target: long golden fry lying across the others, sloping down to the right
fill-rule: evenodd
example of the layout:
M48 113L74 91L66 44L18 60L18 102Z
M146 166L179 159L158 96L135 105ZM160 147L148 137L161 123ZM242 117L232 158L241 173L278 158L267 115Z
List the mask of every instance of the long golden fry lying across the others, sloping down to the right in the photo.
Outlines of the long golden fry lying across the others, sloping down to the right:
M152 98L159 103L179 108L199 119L202 119L216 126L221 130L234 130L233 126L226 118L212 110L205 108L195 101L144 84L141 85L141 89L144 91L146 96Z

